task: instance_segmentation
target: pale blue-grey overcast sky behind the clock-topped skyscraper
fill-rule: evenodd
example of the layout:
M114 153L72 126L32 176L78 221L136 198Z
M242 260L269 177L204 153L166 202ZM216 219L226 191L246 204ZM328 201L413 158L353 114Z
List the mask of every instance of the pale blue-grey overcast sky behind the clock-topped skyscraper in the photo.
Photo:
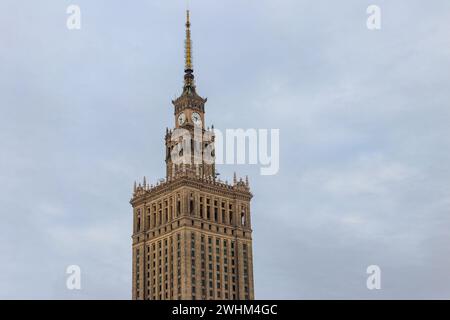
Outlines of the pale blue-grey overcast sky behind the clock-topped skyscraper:
M165 175L185 8L0 2L0 298L131 298L128 202ZM450 298L450 2L190 9L207 123L280 129L277 175L219 167L250 176L256 298Z

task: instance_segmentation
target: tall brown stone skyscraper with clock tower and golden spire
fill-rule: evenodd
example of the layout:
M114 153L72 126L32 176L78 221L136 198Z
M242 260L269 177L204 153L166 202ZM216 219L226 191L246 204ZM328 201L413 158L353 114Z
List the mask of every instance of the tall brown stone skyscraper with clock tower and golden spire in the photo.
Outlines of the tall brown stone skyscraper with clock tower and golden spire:
M205 127L207 99L197 94L191 23L186 14L181 96L172 101L166 178L134 184L132 298L254 299L248 179L220 181L214 130Z

